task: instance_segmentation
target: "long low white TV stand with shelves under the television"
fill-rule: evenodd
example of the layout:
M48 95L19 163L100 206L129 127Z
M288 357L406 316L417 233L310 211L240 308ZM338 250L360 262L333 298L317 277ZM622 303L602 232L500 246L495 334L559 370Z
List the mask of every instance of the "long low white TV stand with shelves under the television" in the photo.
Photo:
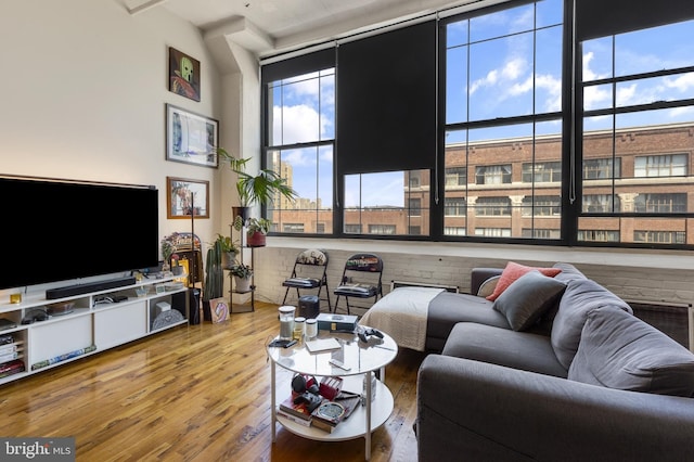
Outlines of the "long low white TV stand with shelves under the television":
M0 330L0 338L4 335L13 337L12 344L0 344L0 364L11 361L5 355L12 356L12 350L16 349L16 359L24 362L25 371L0 377L0 385L188 323L188 287L174 284L176 278L179 277L151 277L123 287L50 300L37 294L24 296L20 304L10 304L8 297L0 304L0 318L15 322L16 326ZM146 293L138 296L136 290ZM126 296L127 299L107 301L115 296ZM22 324L22 319L31 312L40 313L50 305L65 301L75 303L70 312ZM164 326L158 322L155 328L154 321L162 309L157 304L160 303L170 306L171 316L168 318L172 321ZM165 304L162 305L166 307Z

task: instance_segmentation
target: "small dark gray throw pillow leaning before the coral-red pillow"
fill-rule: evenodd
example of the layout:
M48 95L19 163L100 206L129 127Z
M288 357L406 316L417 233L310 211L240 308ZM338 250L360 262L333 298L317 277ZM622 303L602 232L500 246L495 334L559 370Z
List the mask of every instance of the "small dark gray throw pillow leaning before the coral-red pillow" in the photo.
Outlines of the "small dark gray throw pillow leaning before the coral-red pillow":
M550 307L556 305L566 284L539 271L530 271L513 282L494 300L493 309L503 313L514 331L530 328Z

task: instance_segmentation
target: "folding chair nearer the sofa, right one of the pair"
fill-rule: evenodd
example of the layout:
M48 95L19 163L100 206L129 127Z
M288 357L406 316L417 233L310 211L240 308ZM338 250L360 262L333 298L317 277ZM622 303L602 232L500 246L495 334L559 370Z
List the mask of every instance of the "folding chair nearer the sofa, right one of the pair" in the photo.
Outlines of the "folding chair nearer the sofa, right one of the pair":
M374 254L355 254L345 262L343 278L339 286L333 292L337 295L335 300L335 309L339 304L339 297L345 297L347 303L347 315L350 315L349 298L374 298L374 303L378 300L378 296L383 296L383 260Z

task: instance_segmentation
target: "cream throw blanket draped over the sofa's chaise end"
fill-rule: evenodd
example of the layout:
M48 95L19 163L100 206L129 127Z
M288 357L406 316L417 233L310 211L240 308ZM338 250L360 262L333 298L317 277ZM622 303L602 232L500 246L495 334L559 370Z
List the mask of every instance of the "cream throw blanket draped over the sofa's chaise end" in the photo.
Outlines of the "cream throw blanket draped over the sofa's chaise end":
M390 335L400 348L424 351L429 301L442 288L398 287L376 301L359 321Z

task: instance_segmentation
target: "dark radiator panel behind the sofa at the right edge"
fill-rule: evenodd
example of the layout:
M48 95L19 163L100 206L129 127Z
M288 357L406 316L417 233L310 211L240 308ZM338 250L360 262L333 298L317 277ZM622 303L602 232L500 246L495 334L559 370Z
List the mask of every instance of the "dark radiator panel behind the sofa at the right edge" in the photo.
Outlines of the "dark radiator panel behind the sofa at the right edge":
M627 300L633 313L694 351L694 309L692 304Z

